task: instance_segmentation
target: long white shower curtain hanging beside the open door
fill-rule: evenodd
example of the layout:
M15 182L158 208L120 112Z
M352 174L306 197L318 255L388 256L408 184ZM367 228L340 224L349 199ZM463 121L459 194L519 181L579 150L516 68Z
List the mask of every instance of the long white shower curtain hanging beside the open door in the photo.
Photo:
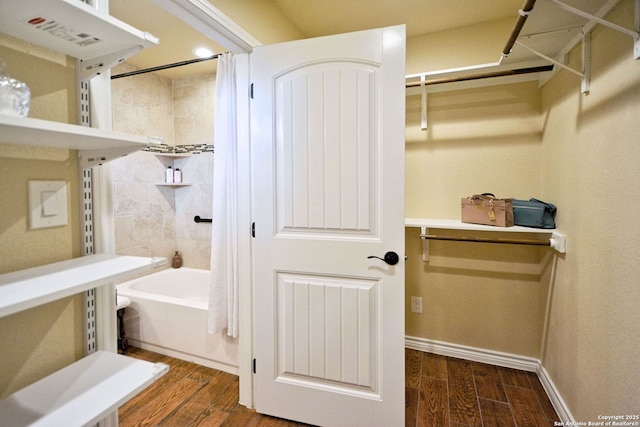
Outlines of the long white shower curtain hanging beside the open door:
M208 331L238 336L238 224L235 57L218 57Z

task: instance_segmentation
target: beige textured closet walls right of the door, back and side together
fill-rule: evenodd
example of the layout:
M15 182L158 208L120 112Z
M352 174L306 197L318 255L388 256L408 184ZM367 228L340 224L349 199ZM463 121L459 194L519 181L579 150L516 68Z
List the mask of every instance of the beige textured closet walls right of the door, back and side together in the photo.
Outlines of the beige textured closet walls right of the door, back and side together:
M607 19L632 28L633 15L633 1L623 0ZM589 95L566 71L541 90L432 95L424 133L419 97L407 100L407 216L456 218L459 197L476 191L534 195L558 205L568 242L567 254L553 257L432 242L422 263L418 230L408 229L407 297L423 296L425 314L410 313L407 301L407 334L539 357L584 422L640 413L640 62L632 50L629 36L597 27ZM580 57L578 46L574 68ZM426 58L428 69L455 61Z

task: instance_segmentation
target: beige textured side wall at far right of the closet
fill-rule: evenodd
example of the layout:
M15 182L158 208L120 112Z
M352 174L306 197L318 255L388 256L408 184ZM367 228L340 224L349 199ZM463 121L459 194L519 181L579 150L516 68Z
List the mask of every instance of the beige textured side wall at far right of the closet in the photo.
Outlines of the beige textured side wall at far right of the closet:
M633 1L607 19L632 28ZM542 89L543 189L562 207L568 245L542 361L577 421L640 414L640 61L632 50L631 37L598 27L589 95L567 72ZM571 63L580 67L580 47Z

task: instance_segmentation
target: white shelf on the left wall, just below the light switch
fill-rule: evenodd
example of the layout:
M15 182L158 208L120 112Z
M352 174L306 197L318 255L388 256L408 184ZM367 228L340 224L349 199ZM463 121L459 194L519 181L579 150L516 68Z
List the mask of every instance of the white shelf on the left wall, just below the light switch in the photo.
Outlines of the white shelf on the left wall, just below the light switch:
M0 275L0 317L150 271L164 258L89 255Z

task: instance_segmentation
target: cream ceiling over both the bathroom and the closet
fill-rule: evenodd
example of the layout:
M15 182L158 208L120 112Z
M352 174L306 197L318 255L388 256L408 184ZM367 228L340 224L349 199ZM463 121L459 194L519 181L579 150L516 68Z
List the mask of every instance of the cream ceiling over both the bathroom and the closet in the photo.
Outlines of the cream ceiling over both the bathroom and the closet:
M270 2L304 37L318 37L389 25L406 24L407 36L513 17L524 0L249 0ZM215 6L216 2L211 1ZM222 8L221 8L222 9ZM223 11L224 12L224 11ZM128 62L139 68L193 59L192 49L226 49L156 5L153 0L110 0L116 18L160 38L160 45L146 49ZM251 33L250 29L247 29ZM215 70L216 61L159 72L169 78L185 78Z

